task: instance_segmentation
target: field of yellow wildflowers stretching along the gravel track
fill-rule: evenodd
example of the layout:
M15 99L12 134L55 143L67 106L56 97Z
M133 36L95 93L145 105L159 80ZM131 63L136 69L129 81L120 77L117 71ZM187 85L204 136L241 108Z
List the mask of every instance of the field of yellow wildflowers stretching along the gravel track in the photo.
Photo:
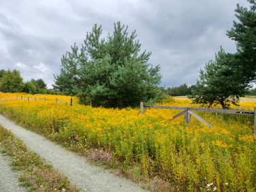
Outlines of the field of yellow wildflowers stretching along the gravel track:
M132 108L82 106L76 98L69 106L69 101L59 95L0 93L0 112L33 131L53 134L63 142L76 140L81 150L110 150L123 165L139 167L143 178L157 176L176 190L256 189L253 116L196 112L213 126L209 129L193 117L189 125L182 116L171 120L178 110L147 109L140 114ZM199 107L172 98L159 105ZM253 111L255 106L246 102L234 108Z

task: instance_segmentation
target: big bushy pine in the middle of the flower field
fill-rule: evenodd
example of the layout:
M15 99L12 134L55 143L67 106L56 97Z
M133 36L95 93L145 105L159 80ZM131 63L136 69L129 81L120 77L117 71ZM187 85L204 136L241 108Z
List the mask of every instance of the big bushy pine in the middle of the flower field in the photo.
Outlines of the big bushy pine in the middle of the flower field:
M101 33L95 25L80 51L71 46L61 60L61 74L54 76L54 88L78 95L80 101L93 99L93 106L122 108L155 99L160 67L148 63L150 52L140 53L135 31L128 35L127 27L117 22L107 39L100 39Z

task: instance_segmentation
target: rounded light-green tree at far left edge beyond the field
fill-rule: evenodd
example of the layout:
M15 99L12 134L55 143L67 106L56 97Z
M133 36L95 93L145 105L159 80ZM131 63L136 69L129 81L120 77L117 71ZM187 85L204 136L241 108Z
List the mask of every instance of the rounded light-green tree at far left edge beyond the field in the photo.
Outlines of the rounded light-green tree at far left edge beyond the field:
M23 90L22 77L20 71L5 71L0 79L0 89L3 92L16 93Z

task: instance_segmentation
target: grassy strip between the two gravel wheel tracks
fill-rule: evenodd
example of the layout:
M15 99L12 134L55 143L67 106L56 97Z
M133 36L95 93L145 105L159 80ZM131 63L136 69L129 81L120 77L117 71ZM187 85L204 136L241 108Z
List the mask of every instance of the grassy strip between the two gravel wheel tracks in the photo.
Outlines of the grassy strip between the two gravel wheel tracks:
M0 126L1 153L12 159L12 170L20 172L18 179L28 191L79 191L69 180L25 144Z

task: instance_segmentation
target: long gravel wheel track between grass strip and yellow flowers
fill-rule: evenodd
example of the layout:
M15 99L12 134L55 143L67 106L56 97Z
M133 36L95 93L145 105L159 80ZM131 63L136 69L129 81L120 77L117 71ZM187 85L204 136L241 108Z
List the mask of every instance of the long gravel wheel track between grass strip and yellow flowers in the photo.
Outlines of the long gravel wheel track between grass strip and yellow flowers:
M69 178L71 185L76 185L85 191L145 191L139 185L125 178L120 178L99 167L89 165L83 157L74 155L74 153L46 140L41 135L15 125L1 115L0 124L12 131L17 138L27 145L27 148L46 161L50 161L54 168Z

